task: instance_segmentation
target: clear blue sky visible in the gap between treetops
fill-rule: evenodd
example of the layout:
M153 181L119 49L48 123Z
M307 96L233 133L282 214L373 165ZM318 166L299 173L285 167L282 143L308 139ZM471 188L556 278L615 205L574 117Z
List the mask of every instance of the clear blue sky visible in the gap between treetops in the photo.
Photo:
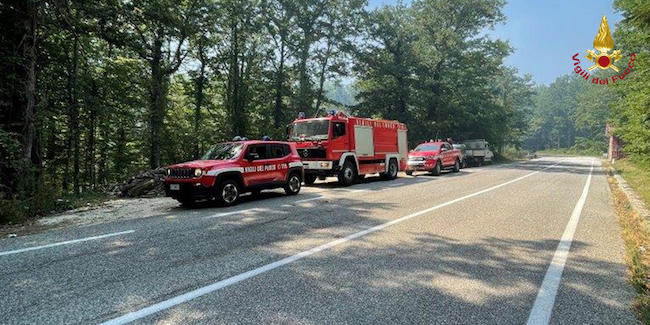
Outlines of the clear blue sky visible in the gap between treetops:
M370 7L395 3L397 0L370 0ZM581 65L586 64L586 50L593 49L603 15L607 15L612 32L621 20L612 0L510 0L504 12L506 23L488 34L508 40L515 48L507 65L544 84L572 72L571 57L576 53L580 53Z

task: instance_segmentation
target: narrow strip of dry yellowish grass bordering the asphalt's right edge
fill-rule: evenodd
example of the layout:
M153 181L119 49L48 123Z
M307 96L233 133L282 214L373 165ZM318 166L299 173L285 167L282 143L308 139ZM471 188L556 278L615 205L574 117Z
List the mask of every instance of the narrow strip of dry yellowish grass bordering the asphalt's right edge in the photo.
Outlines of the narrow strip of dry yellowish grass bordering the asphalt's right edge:
M606 164L606 168L610 172L608 181L625 243L629 281L636 291L634 308L641 322L650 325L650 234L647 221L631 208L627 196L611 177L611 165Z

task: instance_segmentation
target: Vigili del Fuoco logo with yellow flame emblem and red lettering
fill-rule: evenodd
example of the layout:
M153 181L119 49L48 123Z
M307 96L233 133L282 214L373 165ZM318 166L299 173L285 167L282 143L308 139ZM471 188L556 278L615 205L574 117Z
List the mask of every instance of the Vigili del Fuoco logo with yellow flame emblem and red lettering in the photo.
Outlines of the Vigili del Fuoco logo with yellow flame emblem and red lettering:
M579 53L576 53L573 56L573 60L576 61L573 65L576 67L573 69L577 74L582 76L585 80L589 80L589 73L593 69L601 69L601 70L607 70L607 69L612 69L617 72L616 75L613 75L611 77L605 77L605 78L599 78L599 77L592 77L591 82L595 84L600 84L600 85L609 85L609 82L611 81L612 83L616 83L616 81L620 81L625 79L625 77L631 72L631 69L634 67L634 60L636 60L636 55L632 53L630 55L630 63L628 63L627 67L617 67L616 62L620 60L623 56L621 56L621 50L614 50L612 54L609 54L609 51L611 51L614 48L614 39L612 38L612 32L609 30L609 25L607 25L607 17L603 15L603 20L600 22L600 28L598 29L598 35L596 35L596 38L594 39L594 48L598 50L599 53L596 54L596 51L593 50L587 50L587 55L585 55L585 58L587 60L593 62L594 64L590 66L588 69L583 69L580 67L578 64L580 64L580 60L577 59ZM621 71L621 69L625 69Z

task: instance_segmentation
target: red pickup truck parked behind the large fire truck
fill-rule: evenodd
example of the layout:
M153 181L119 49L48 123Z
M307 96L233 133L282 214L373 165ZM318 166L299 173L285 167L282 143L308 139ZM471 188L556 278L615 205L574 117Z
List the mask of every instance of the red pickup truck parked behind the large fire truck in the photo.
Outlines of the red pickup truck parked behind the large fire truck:
M443 169L452 169L456 173L460 170L461 161L462 152L454 149L448 142L425 142L409 152L406 174L427 171L437 176Z

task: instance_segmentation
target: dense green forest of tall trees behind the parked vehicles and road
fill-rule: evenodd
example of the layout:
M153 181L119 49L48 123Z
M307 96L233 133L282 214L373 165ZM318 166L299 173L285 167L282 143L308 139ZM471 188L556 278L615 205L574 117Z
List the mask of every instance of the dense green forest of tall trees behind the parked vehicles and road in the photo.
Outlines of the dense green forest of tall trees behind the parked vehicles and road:
M630 152L647 155L650 6L616 1L617 45L638 63L605 94L576 76L536 86L504 65L513 49L489 35L504 5L2 1L0 221L235 135L283 139L298 112L398 119L412 143L486 138L497 150L603 151L611 120Z

